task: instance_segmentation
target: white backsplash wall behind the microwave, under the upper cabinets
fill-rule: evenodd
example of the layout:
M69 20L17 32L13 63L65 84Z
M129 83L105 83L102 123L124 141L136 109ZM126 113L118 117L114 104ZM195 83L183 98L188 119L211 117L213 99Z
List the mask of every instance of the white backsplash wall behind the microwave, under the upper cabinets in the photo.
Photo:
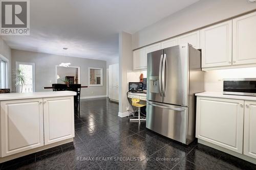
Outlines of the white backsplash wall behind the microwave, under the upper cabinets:
M204 74L205 91L222 92L223 79L256 78L256 67L211 70Z

